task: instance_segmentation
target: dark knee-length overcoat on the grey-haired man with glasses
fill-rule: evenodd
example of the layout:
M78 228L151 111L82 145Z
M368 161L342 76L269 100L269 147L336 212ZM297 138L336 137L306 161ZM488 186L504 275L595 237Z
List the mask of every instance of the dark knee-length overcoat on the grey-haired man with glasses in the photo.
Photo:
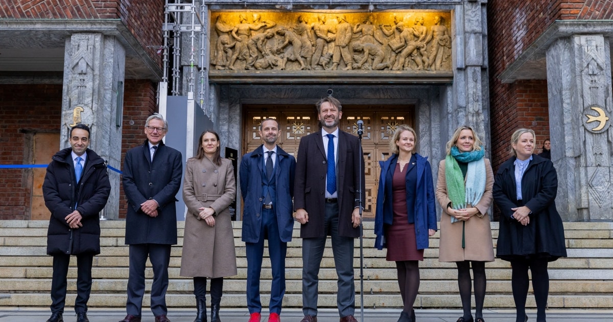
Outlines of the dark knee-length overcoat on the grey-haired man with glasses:
M175 195L181 187L181 153L160 142L153 156L147 140L126 153L123 164L123 191L128 197L126 245L139 243L177 243L177 207ZM140 204L154 199L158 217L149 217Z

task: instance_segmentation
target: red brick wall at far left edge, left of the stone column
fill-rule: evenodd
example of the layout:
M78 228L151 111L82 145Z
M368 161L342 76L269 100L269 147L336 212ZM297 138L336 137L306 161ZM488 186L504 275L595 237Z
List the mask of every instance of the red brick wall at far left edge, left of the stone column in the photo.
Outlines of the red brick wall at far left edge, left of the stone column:
M26 150L33 132L59 132L62 85L0 86L0 164L31 164ZM28 170L0 169L0 220L28 220Z

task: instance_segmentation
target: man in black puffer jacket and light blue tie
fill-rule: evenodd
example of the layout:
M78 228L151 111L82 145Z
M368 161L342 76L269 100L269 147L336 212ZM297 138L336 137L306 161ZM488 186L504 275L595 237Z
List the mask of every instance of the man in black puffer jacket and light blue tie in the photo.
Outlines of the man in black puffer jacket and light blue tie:
M70 148L53 156L42 186L51 212L47 254L53 256L51 317L47 322L63 321L70 255L77 256L77 322L89 322L91 266L94 255L100 253L99 212L111 190L104 160L87 148L89 134L89 127L83 124L70 129Z

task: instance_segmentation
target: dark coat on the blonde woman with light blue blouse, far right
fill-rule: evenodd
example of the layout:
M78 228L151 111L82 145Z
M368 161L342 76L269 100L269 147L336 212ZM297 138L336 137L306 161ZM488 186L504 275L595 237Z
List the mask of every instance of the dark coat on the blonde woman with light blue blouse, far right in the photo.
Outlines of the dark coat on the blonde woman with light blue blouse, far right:
M532 212L530 223L524 226L511 218L511 208L518 207L515 160L513 156L505 161L494 178L492 194L501 212L496 256L505 261L530 257L555 261L566 256L562 218L555 209L558 176L554 164L532 155L522 177L522 202Z

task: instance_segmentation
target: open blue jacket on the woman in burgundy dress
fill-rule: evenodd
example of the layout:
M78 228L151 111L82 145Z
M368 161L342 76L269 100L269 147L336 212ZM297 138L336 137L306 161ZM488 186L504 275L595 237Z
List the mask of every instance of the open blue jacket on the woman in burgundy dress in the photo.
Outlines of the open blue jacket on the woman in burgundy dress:
M415 237L417 249L428 248L428 229L436 230L436 205L434 197L434 184L432 181L432 168L428 158L416 153L417 158L417 185L415 197ZM384 224L392 224L394 213L392 212L392 185L387 182L387 171L396 165L397 155L390 156L386 161L379 161L381 174L379 175L379 190L377 192L377 205L375 213L375 247L383 249ZM409 186L406 187L409 189ZM410 187L410 189L413 189Z

